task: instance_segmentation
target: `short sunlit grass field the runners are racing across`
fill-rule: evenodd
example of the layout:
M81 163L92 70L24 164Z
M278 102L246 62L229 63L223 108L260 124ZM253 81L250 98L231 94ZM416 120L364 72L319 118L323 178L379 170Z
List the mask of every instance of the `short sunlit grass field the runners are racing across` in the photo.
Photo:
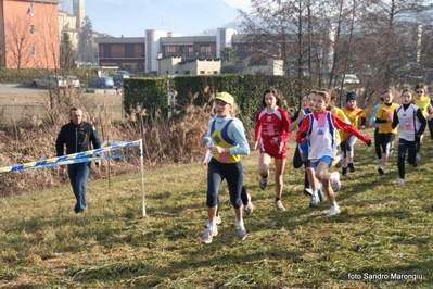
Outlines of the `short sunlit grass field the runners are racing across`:
M79 217L68 184L0 199L0 288L432 288L433 144L426 137L422 144L421 165L407 165L398 186L396 155L380 176L373 148L358 141L357 171L342 177L342 213L331 218L328 202L308 208L303 171L291 160L288 210L277 212L273 180L258 189L258 154L243 158L255 210L242 242L224 185L219 235L201 243L199 163L145 172L145 217L138 172L90 181Z

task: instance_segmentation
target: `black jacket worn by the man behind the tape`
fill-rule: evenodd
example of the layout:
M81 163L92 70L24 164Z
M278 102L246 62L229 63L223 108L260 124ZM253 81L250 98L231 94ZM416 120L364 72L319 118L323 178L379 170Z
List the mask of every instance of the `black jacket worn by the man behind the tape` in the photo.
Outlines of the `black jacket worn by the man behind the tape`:
M58 156L64 155L64 144L66 144L66 154L88 151L101 148L101 141L98 138L97 129L93 125L81 122L75 125L73 122L62 126L55 141L55 151Z

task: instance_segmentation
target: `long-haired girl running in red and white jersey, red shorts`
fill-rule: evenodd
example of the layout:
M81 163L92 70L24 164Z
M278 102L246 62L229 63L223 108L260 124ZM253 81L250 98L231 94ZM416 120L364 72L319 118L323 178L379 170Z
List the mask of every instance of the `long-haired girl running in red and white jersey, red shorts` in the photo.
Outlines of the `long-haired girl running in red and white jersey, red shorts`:
M265 189L269 176L269 164L275 159L276 167L276 203L277 211L285 211L281 202L285 161L288 146L286 140L291 136L289 133L289 114L280 108L282 104L282 95L273 88L268 88L262 99L265 106L256 113L255 137L253 150L257 149L260 140L260 158L258 160L258 174L260 189Z

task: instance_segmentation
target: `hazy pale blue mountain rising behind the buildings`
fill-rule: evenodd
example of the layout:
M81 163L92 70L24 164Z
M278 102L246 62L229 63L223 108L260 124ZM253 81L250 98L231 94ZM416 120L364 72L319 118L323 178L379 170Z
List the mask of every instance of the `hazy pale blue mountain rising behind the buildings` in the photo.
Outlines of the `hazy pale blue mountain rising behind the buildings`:
M209 35L235 26L237 9L222 0L86 0L93 30L115 37L144 37L147 29L183 36ZM229 25L229 26L227 26Z

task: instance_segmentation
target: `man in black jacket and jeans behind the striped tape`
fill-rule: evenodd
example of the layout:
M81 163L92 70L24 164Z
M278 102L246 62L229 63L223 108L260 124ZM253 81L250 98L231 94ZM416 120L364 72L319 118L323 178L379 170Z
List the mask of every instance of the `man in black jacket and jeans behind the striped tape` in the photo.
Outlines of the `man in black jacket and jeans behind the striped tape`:
M92 124L82 122L82 111L77 108L69 110L71 123L62 126L55 141L58 156L64 155L64 144L66 144L66 154L82 152L101 148L101 141L98 138L97 129ZM95 162L99 166L100 161ZM67 174L77 203L75 213L80 215L87 208L86 185L90 173L90 162L67 165Z

